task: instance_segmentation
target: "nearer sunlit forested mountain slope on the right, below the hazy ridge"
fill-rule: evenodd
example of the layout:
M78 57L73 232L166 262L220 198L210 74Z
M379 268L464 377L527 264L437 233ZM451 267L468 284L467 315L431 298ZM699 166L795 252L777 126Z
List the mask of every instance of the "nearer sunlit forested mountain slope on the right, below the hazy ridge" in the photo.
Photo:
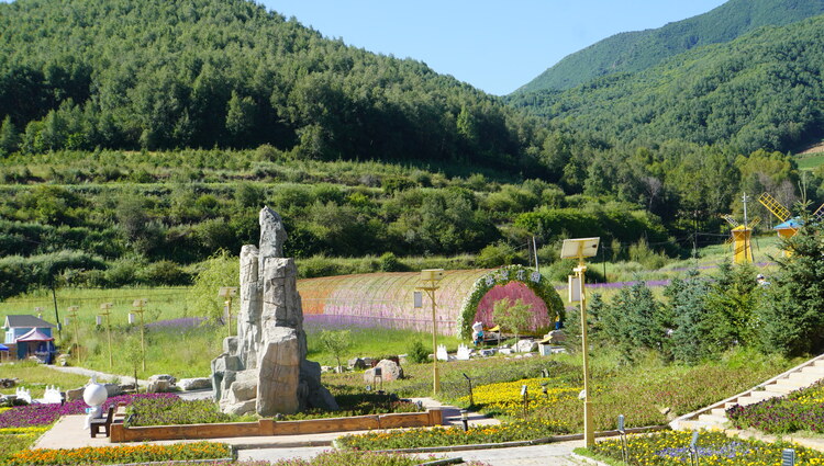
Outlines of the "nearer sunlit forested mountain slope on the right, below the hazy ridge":
M824 16L815 16L512 103L612 141L787 151L824 135L823 70Z

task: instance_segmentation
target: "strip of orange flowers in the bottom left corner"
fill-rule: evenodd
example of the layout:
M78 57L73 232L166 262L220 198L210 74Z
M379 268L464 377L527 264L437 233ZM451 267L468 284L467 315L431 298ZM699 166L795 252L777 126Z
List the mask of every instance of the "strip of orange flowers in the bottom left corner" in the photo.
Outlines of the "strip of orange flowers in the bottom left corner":
M5 464L9 466L126 464L165 462L170 459L216 459L231 457L232 450L226 444L198 442L171 445L25 450L12 454Z

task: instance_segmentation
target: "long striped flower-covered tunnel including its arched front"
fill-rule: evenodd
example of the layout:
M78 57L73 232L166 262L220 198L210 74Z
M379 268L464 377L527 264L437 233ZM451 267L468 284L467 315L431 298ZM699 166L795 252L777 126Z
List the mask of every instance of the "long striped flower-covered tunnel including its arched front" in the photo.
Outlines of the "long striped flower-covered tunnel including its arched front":
M304 279L298 281L298 292L308 322L432 331L425 294L423 308L414 307L413 293L421 285L420 272L383 272ZM550 327L563 306L546 279L522 266L445 271L438 286L436 320L442 334L468 337L475 320L493 327L492 306L503 298L533 305L532 330Z

